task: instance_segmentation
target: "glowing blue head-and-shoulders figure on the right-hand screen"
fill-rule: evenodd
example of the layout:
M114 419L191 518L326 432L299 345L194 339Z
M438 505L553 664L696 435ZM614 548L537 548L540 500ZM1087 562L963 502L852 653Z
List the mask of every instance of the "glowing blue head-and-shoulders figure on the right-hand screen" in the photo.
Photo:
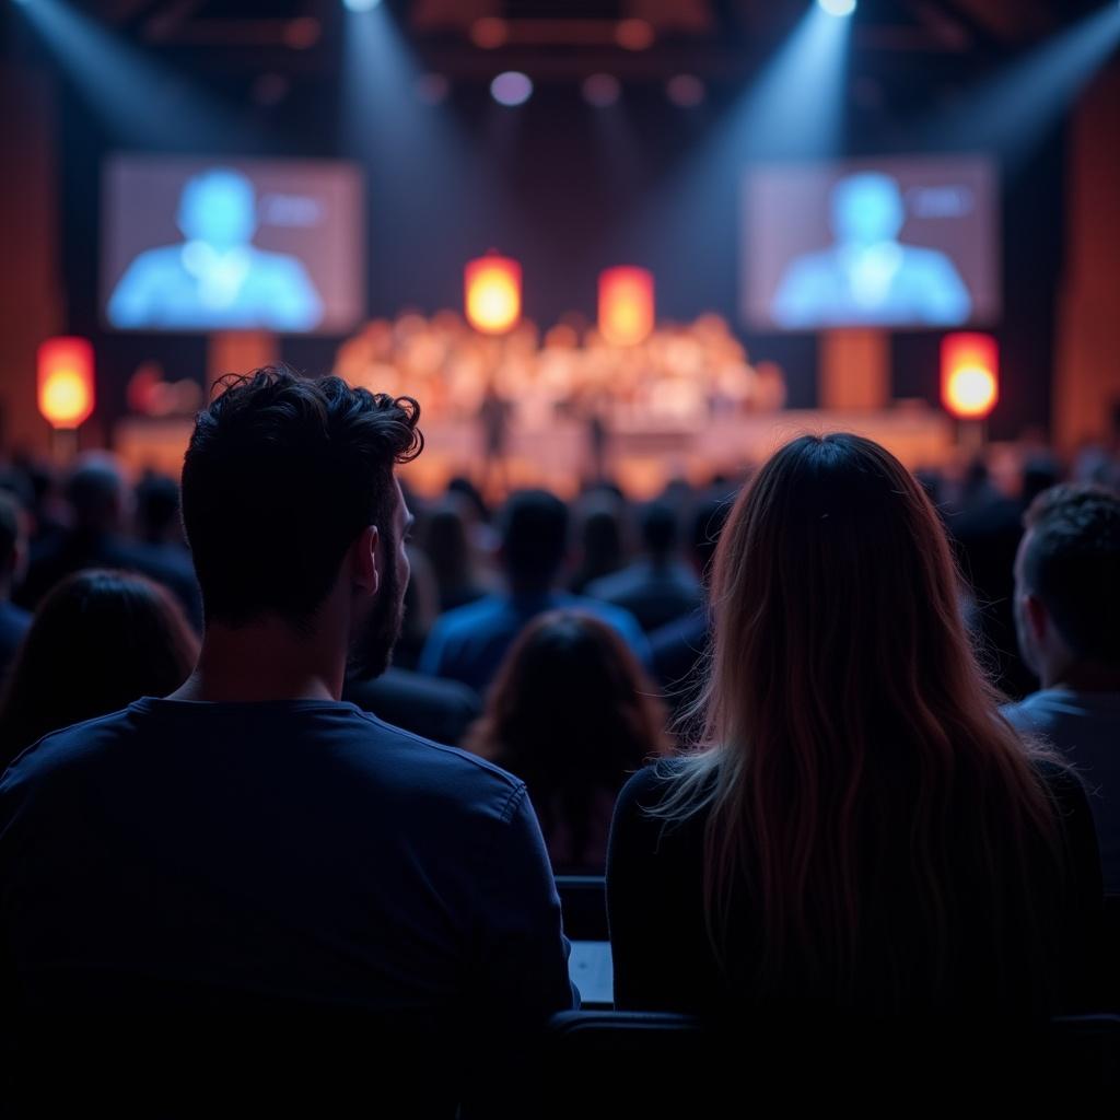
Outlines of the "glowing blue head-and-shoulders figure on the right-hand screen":
M832 189L836 244L797 258L774 297L782 327L964 323L972 299L953 262L898 242L906 221L898 184L868 171Z

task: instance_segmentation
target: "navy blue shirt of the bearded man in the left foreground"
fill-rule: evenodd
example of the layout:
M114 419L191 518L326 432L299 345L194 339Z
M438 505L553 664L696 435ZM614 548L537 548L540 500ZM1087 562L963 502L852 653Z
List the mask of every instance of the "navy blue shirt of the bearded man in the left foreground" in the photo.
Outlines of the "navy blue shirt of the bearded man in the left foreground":
M49 1015L572 1004L524 784L349 703L143 699L43 739L0 782L0 923Z

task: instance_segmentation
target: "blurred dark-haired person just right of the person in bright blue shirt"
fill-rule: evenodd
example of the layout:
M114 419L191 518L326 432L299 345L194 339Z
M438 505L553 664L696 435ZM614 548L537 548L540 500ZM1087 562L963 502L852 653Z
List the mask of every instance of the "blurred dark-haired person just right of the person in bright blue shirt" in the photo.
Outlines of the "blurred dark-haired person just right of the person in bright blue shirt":
M647 634L696 610L700 582L676 557L675 511L654 502L642 511L644 556L628 568L592 580L585 594L628 610Z

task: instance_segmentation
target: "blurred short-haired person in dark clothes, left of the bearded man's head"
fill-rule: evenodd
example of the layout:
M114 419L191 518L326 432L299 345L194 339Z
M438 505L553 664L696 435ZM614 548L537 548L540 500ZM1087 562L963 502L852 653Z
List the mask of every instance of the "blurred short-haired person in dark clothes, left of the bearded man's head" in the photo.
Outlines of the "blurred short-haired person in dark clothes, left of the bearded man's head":
M192 623L202 620L189 558L168 556L124 536L129 492L114 456L105 451L83 455L67 479L66 500L73 528L44 539L32 551L27 579L19 589L20 603L36 607L55 584L83 568L120 568L162 584L178 598Z

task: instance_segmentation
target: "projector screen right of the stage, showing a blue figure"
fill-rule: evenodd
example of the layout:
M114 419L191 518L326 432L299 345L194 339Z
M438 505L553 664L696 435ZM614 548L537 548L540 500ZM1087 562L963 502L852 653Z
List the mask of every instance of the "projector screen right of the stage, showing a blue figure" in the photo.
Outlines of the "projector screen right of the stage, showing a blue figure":
M759 166L746 176L745 213L752 327L958 327L999 316L988 159Z

